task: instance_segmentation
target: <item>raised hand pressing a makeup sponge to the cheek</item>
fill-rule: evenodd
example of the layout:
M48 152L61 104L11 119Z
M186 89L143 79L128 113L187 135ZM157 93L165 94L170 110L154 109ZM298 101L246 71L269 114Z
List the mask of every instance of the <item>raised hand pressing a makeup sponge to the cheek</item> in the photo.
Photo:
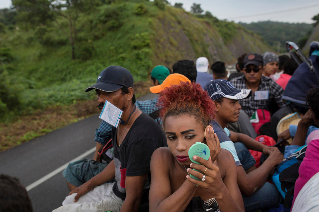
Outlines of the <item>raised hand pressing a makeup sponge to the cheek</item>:
M208 125L204 131L204 137L206 138L206 144L211 151L211 161L212 163L216 160L217 156L220 153L221 147L219 139L214 133L214 129L211 125Z

